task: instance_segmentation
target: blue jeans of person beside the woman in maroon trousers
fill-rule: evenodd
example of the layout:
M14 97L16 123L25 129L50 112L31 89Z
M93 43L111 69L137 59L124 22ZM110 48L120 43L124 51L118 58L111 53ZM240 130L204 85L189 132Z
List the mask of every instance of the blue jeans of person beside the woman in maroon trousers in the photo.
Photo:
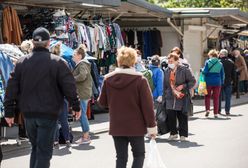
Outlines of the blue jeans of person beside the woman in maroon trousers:
M223 96L225 100L225 112L229 113L231 108L231 99L232 99L232 85L222 86L221 88L219 112L221 111L221 100Z

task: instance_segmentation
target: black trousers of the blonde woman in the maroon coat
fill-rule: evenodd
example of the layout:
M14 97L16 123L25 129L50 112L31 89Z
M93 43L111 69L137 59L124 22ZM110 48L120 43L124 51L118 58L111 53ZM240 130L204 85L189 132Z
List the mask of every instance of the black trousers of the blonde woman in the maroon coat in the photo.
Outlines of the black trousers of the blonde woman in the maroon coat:
M116 150L116 168L126 168L128 161L128 144L133 152L132 168L142 168L145 159L144 136L113 136Z

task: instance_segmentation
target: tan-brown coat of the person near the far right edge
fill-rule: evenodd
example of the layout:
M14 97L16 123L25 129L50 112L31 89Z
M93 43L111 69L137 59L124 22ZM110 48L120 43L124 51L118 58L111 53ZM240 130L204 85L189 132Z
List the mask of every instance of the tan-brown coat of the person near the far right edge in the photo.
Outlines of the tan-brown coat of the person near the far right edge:
M239 81L248 80L247 66L245 59L241 55L236 58L235 66L237 67L237 71L240 73Z

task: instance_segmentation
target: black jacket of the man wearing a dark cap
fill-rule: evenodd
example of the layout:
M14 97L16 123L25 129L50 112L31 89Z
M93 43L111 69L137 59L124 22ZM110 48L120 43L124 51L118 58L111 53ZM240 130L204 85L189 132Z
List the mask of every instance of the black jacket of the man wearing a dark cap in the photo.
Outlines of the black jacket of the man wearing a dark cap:
M4 100L5 117L19 108L24 117L57 119L64 97L80 110L74 77L65 62L48 49L35 48L21 57L11 73Z

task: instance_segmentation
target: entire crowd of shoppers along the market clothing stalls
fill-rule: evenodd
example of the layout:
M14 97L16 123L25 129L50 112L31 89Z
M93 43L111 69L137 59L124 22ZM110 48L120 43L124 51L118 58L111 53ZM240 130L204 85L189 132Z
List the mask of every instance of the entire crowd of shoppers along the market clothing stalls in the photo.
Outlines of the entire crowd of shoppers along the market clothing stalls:
M73 55L76 66L70 69L60 57L59 43L49 51L50 35L45 28L37 28L33 40L25 44L28 47L23 50L27 55L16 62L8 81L5 119L12 126L16 111L22 112L32 146L30 168L49 168L53 149L59 148L59 125L66 146L71 146L69 111L80 120L82 127L82 135L75 142L91 143L86 115L92 97L91 65L86 59L87 47L80 45ZM130 47L118 49L117 68L104 76L98 98L100 106L109 111L109 134L114 140L117 168L126 167L129 143L134 156L132 167L143 167L144 136L156 138L158 134L155 115L158 104L163 103L165 107L168 140L180 137L183 142L188 137L187 100L197 88L190 64L178 47L171 50L165 65L159 55L152 56L150 64L145 65L141 55L139 50ZM222 99L226 115L230 114L234 84L241 94L248 92L248 50L244 51L244 56L239 50L232 53L225 49L211 50L208 56L201 70L207 90L205 116L210 114L213 97L214 117L217 118Z

